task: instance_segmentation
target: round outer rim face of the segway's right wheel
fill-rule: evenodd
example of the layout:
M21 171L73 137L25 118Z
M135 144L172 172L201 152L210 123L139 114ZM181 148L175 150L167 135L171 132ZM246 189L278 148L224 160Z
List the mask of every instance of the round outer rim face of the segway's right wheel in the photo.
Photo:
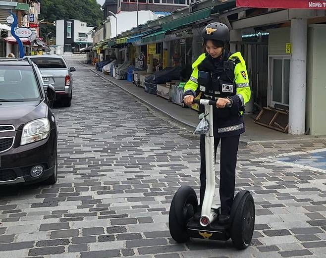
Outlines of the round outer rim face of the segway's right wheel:
M252 201L247 201L244 206L243 220L243 240L245 245L249 245L255 226L255 208Z

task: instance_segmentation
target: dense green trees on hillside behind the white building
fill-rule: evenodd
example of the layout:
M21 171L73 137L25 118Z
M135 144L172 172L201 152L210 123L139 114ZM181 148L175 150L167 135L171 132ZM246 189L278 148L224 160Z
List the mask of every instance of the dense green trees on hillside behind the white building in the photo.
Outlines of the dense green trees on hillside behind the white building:
M103 20L101 5L96 0L41 0L39 20L54 22L61 19L74 19L86 22L88 26L96 27ZM55 27L51 24L40 24L40 37L45 38ZM53 38L52 37L52 38Z

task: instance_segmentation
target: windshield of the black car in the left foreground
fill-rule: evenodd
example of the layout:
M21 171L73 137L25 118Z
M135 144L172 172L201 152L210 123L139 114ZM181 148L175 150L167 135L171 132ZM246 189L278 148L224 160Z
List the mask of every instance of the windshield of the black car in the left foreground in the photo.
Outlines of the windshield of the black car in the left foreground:
M36 101L40 90L31 66L0 65L1 101Z

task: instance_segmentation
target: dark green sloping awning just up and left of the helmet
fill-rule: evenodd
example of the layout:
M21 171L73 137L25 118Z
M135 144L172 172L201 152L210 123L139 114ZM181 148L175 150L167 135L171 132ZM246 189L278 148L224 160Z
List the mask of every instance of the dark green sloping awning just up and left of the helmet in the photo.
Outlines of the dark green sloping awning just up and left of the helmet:
M207 9L203 9L203 10L199 10L196 11L194 13L188 14L184 17L181 17L179 19L175 19L169 22L165 22L162 24L162 28L163 30L167 31L167 30L173 30L179 27L182 27L184 25L188 25L190 23L199 21L199 20L203 20L203 19L207 19L208 17L210 17L211 15L211 8L207 8Z

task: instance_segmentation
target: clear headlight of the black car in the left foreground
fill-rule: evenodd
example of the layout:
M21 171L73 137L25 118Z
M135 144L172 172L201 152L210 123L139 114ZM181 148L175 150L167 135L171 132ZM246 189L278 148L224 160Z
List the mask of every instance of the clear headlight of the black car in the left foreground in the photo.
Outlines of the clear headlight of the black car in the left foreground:
M50 133L50 121L42 118L25 124L21 135L20 145L41 141L48 137Z

